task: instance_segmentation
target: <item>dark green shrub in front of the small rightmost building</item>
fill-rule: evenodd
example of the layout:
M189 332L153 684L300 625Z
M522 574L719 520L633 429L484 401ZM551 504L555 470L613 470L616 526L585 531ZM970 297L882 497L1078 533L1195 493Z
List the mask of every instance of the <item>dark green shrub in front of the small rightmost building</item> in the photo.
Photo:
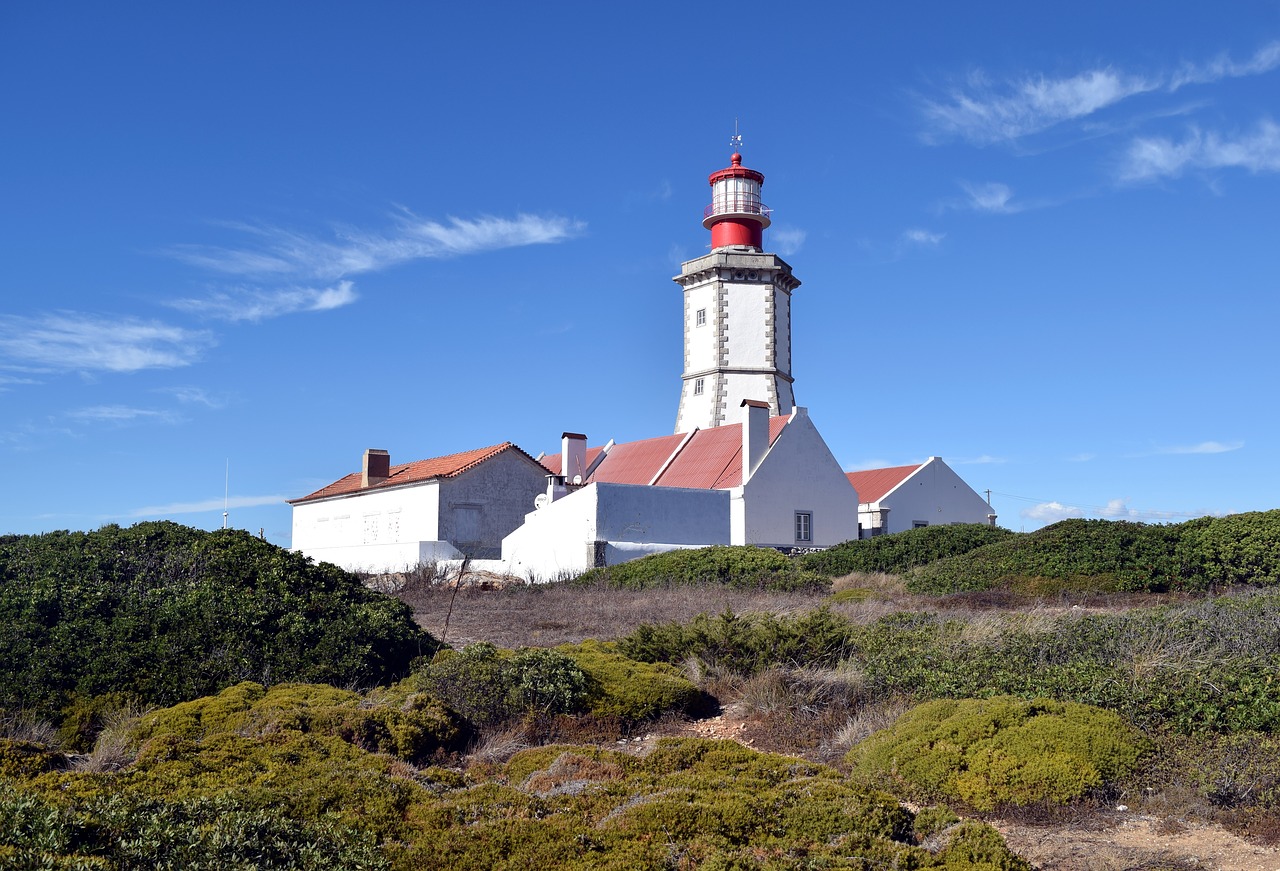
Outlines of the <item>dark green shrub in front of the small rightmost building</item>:
M901 574L948 556L968 553L984 544L1012 538L1015 533L986 524L923 526L890 535L844 542L800 557L800 566L824 575L854 571Z

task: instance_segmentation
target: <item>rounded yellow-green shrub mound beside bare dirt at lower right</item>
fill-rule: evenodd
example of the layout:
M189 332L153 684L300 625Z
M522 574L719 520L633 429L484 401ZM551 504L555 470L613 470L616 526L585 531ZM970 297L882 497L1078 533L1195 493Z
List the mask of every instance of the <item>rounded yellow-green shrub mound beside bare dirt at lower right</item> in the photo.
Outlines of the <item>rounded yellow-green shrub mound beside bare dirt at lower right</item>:
M1062 803L1133 770L1148 744L1115 713L1010 697L925 702L849 752L860 777L979 811Z

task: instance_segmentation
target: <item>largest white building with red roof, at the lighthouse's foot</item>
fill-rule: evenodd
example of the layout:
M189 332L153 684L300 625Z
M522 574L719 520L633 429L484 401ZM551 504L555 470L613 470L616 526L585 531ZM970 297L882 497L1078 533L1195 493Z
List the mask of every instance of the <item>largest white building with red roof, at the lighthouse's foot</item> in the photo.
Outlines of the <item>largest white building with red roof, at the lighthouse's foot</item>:
M681 547L856 538L858 493L808 411L740 409L742 423L590 450L566 433L561 456L541 460L552 474L539 507L502 542L502 567L553 579Z

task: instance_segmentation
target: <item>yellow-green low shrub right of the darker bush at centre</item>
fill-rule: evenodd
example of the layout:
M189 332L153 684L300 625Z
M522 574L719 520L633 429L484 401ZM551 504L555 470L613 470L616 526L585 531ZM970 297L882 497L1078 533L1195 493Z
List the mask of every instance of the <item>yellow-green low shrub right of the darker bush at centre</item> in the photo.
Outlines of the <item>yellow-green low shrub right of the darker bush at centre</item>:
M623 726L668 712L691 713L704 704L698 687L675 667L637 662L620 653L617 644L585 640L556 649L586 676L586 710L596 716L617 717Z

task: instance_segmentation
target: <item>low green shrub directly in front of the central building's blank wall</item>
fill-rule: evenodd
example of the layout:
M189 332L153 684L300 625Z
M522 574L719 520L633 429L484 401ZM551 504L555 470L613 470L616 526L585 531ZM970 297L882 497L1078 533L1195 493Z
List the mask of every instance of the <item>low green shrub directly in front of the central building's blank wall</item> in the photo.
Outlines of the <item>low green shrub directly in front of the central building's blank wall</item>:
M575 585L603 584L618 589L722 585L736 589L827 592L831 579L804 570L769 547L700 547L652 553L639 560L579 575Z

